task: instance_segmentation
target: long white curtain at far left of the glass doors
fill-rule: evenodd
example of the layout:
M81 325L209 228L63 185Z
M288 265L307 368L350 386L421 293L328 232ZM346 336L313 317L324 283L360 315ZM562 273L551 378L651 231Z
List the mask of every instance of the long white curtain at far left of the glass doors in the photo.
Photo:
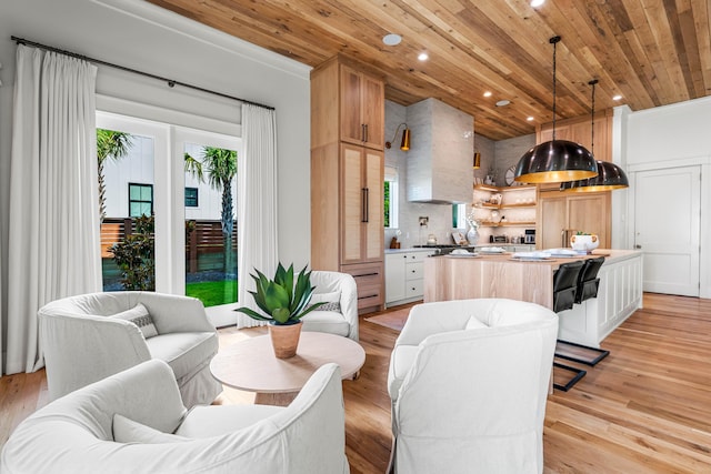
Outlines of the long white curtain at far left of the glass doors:
M43 365L37 311L101 291L97 68L18 46L10 162L6 373Z

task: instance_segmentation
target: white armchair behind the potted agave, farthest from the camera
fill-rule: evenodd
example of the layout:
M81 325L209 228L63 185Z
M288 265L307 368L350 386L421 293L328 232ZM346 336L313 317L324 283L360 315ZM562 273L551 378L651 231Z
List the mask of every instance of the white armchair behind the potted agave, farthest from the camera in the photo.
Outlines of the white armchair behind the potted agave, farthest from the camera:
M358 342L358 288L348 273L314 270L311 286L316 286L311 303L338 303L312 311L303 321L303 331L319 331L350 337ZM338 306L338 307L336 307Z

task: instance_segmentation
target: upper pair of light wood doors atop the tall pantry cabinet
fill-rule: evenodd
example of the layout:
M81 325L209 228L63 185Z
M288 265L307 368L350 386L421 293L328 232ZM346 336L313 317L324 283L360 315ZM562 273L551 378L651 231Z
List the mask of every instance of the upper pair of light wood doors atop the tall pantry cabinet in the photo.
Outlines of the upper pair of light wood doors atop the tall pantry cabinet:
M341 64L341 141L382 150L384 84Z

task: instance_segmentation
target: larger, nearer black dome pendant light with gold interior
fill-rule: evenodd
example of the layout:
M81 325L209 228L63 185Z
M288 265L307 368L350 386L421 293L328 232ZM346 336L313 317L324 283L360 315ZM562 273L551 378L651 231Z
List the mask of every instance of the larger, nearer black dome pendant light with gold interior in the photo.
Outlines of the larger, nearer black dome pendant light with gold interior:
M560 37L550 39L553 44L553 137L527 151L513 172L515 181L525 183L560 183L583 180L598 174L598 165L583 145L568 140L555 140L555 44Z

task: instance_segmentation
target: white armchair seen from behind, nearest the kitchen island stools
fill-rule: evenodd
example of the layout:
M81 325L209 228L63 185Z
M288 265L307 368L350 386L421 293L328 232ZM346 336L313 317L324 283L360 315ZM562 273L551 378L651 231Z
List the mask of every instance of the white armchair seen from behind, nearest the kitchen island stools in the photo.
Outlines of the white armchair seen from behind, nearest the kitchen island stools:
M541 473L558 315L502 299L410 311L388 374L395 473Z

